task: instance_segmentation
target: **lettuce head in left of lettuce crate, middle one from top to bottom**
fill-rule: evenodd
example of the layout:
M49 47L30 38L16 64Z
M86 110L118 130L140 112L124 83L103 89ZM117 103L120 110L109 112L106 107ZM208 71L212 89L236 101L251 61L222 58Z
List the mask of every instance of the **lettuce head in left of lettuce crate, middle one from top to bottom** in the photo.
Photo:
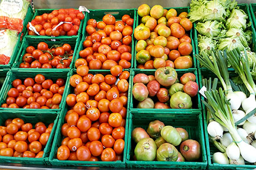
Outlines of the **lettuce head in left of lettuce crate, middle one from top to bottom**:
M221 32L223 23L218 21L206 21L205 23L197 23L195 29L203 36L216 37Z

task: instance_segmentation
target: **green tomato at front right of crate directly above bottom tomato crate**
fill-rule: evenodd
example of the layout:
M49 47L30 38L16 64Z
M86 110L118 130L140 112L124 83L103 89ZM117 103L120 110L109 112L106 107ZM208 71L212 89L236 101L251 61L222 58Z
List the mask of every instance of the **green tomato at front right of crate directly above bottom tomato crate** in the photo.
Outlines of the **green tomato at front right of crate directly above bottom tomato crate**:
M189 109L192 107L192 101L189 94L183 92L176 92L170 99L171 108Z

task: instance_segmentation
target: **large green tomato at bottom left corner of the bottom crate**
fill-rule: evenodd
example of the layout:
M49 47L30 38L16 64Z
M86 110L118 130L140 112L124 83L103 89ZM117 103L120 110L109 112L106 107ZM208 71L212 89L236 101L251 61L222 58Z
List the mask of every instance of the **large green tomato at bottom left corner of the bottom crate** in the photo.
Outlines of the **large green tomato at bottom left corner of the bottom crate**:
M156 157L156 144L151 138L141 139L137 143L134 154L137 161L153 161Z

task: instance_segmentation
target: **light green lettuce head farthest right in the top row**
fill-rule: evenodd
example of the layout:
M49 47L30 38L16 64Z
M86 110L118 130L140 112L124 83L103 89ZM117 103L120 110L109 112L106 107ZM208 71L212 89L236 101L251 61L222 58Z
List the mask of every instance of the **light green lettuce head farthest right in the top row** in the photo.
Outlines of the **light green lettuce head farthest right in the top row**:
M229 18L227 19L227 29L238 28L245 30L246 19L248 18L247 14L242 9L233 9Z

